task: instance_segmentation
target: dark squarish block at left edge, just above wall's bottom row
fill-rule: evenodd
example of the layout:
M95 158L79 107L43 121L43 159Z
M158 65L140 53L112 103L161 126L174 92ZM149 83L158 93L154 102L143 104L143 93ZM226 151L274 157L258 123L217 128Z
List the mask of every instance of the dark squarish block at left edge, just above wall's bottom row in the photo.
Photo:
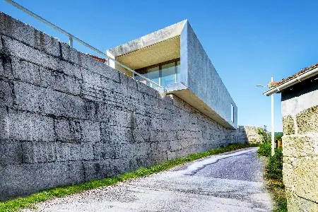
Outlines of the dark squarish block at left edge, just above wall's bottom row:
M0 165L22 163L22 149L19 141L0 140Z

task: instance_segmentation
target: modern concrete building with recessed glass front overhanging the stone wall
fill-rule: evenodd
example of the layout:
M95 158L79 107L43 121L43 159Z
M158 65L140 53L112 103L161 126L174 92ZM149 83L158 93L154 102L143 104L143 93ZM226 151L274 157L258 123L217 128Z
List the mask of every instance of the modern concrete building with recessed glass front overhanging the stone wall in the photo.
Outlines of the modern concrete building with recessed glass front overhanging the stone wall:
M237 107L188 20L155 31L107 51L107 55L136 70L228 129L237 128ZM148 86L110 61L114 69Z

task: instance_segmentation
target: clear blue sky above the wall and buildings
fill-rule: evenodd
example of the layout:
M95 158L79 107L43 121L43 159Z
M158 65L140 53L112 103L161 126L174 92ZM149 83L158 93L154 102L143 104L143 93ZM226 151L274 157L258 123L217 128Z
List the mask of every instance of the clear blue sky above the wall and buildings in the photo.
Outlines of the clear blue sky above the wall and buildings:
M102 51L188 19L237 104L239 125L270 129L271 98L256 85L318 62L318 1L16 1ZM4 0L0 11L68 40ZM274 102L281 131L281 95Z

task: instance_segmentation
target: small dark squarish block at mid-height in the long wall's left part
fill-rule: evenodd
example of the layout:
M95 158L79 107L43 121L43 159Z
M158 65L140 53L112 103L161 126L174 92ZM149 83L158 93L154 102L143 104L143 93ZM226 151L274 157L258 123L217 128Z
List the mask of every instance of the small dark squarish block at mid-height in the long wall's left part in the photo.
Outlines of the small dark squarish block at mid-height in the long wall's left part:
M67 119L54 119L54 133L57 141L81 143L81 122Z

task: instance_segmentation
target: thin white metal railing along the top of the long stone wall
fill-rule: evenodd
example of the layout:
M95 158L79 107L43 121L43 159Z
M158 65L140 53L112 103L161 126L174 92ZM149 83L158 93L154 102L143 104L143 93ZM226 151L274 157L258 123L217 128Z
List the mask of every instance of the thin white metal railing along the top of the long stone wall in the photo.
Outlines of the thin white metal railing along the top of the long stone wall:
M25 13L28 13L30 16L33 16L34 18L37 18L38 20L41 20L43 23L46 23L47 25L49 25L50 27L54 28L55 30L59 31L60 33L63 33L64 35L66 35L67 37L69 37L69 46L73 47L73 40L76 40L77 42L81 43L82 45L88 47L89 49L92 49L93 51L97 52L98 54L101 54L102 56L104 56L107 60L111 60L114 61L115 64L118 64L119 66L122 66L124 69L127 69L128 71L131 71L132 73L140 76L141 78L143 78L144 80L153 83L154 85L158 86L159 88L163 89L163 92L165 92L165 88L163 88L163 86L160 86L158 83L155 83L154 81L151 81L151 79L146 78L145 76L141 75L140 73L136 72L134 69L129 68L128 66L120 63L119 61L117 61L116 59L113 59L112 57L109 57L107 54L105 54L104 52L96 49L95 47L92 47L91 45L89 45L87 42L83 42L83 40L79 39L78 37L75 37L74 35L72 35L71 33L67 33L65 30L62 30L61 28L59 28L57 25L54 25L53 23L49 22L48 20L45 20L45 18L42 18L40 16L37 16L37 14L33 13L32 11L28 10L27 8L21 6L20 4L16 3L15 1L12 0L5 0L6 2L8 2L9 4L15 6L16 8L19 8L21 11L24 11ZM133 74L133 76L134 76ZM134 77L133 77L134 78Z

